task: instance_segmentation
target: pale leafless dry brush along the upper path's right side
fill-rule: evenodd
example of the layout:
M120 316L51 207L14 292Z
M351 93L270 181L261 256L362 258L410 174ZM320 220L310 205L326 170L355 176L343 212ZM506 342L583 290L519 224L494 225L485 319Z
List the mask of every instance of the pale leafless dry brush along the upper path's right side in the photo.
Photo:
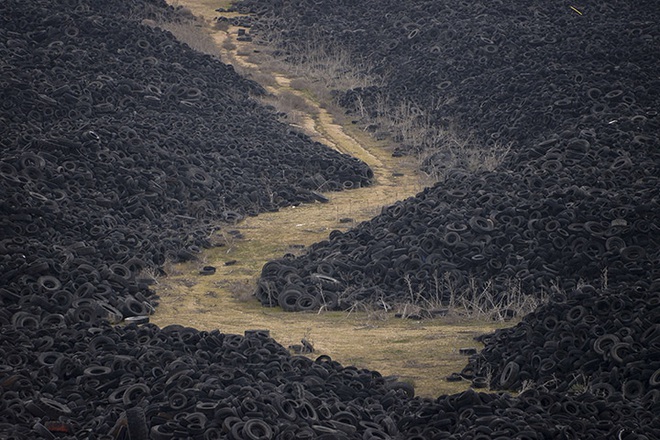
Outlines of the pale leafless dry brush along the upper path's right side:
M312 33L304 42L292 45L280 41L273 24L260 38L270 47L286 47L286 58L278 61L280 70L294 76L290 86L306 90L322 99L332 97L333 90L347 91L369 86L382 86L383 78L364 57L326 43L320 34ZM430 117L430 111L449 104L441 98L429 109L401 97L377 96L367 106L357 98L355 111L362 127L377 139L389 138L415 156L418 167L426 173L423 184L430 185L445 178L453 169L467 172L494 170L506 157L510 145L483 145L475 136L457 126L441 126ZM374 130L373 127L376 127Z

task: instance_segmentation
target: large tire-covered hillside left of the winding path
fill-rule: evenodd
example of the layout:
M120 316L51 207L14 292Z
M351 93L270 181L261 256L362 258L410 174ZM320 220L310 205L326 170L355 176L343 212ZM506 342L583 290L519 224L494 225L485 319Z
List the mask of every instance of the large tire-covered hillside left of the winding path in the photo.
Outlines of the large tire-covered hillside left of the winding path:
M368 185L264 93L144 18L161 2L0 5L0 304L60 326L153 311L148 277L221 224ZM328 173L327 170L335 170Z

